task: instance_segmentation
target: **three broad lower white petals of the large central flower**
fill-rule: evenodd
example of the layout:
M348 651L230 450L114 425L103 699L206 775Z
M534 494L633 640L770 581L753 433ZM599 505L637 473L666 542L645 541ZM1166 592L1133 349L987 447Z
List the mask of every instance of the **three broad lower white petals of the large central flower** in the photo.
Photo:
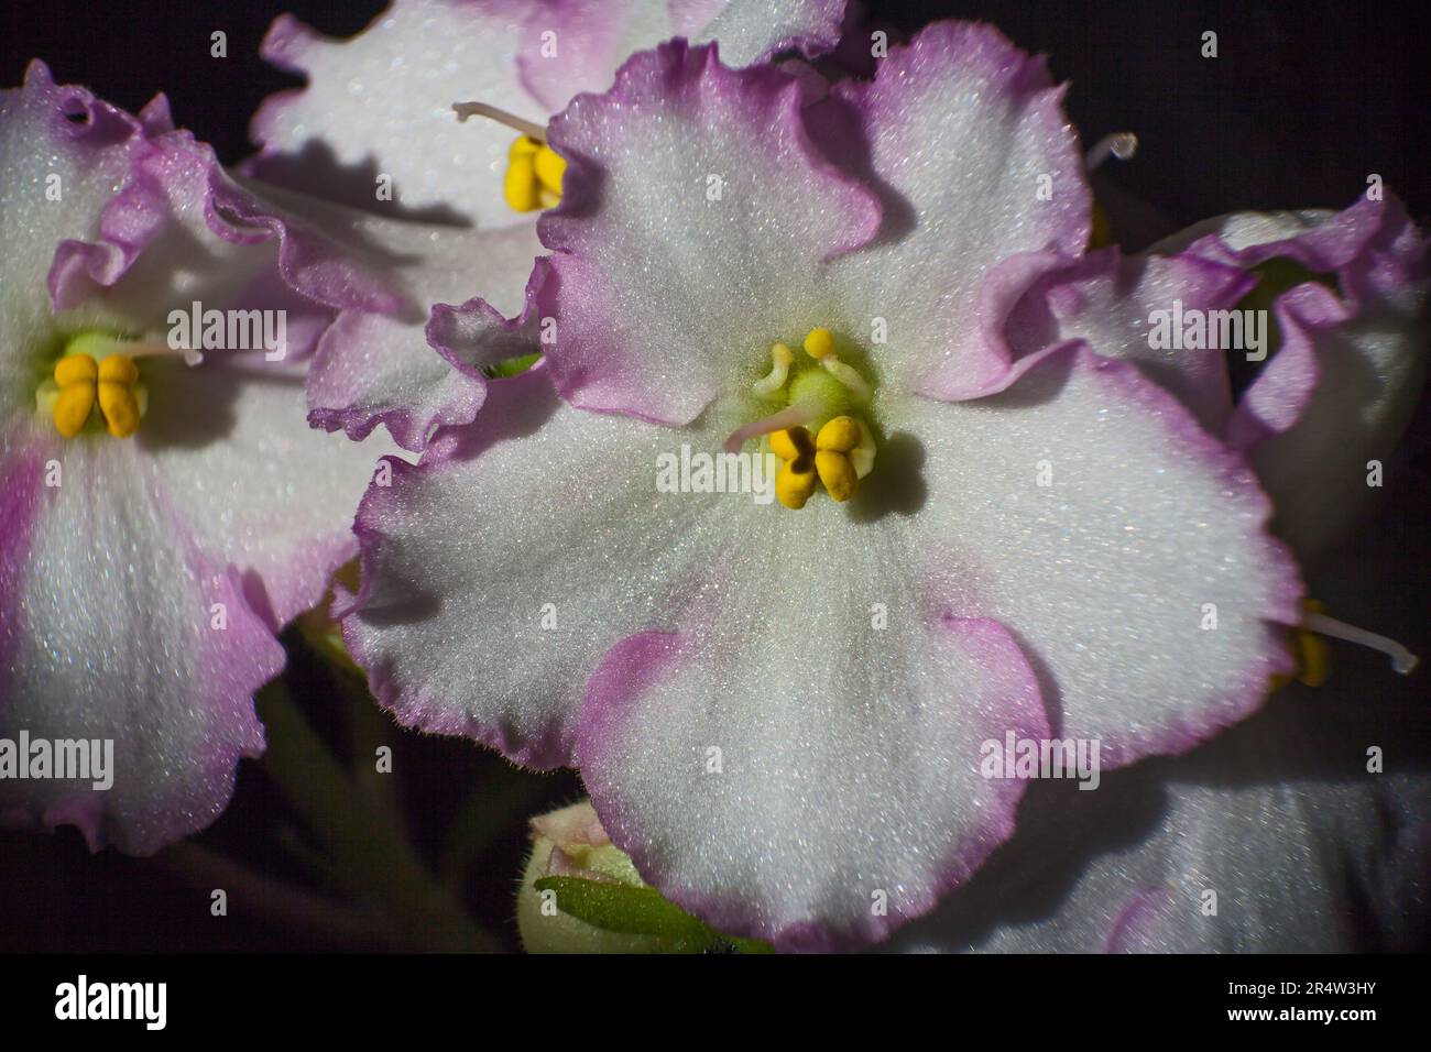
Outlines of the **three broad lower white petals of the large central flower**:
M997 617L1003 627L986 631L1000 640L999 667L1027 660L1052 691L1043 703L1056 733L1100 739L1109 767L1191 747L1254 708L1289 664L1264 618L1295 618L1299 587L1261 532L1266 504L1249 474L1133 366L1075 351L1046 356L993 399L892 405L861 495L798 515L654 485L660 452L718 448L734 412L726 401L697 425L665 429L572 409L544 368L495 382L474 425L444 432L421 467L392 462L392 485L369 491L358 520L363 591L341 611L348 644L405 723L477 737L522 763L575 759L647 879L713 923L787 948L879 937L973 870L1007 833L1003 804L970 817L920 796L923 776L894 781L881 799L903 793L906 810L874 810L903 836L907 867L883 889L883 916L869 912L880 887L856 900L839 853L797 852L793 863L758 846L790 843L819 810L840 829L816 822L796 843L840 844L871 873L859 847L870 812L853 797L829 807L840 790L820 779L840 773L867 806L871 786L890 784L886 753L870 746L859 766L833 757L837 744L897 740L909 753L906 740L930 741L947 760L953 743L977 757L1010 730L1046 733L1036 704L1003 723L960 721L987 714L977 700L937 710L939 733L919 721L936 703L909 698L953 697L943 614ZM1056 472L1047 494L1036 484L1040 451ZM883 507L892 494L904 502ZM1218 630L1201 630L1203 603L1219 604ZM887 635L874 604L886 607ZM716 613L707 624L693 611ZM989 681L973 683L986 697ZM999 683L987 697L1027 697ZM720 713L718 727L707 711ZM817 731L827 724L829 739ZM724 737L697 741L701 730ZM704 764L723 741L754 757L744 770L777 777L733 779L731 790L675 780L663 750ZM867 774L851 781L850 770ZM827 806L788 803L791 784ZM705 794L721 792L733 796L714 807ZM923 823L922 839L890 814ZM717 866L713 852L743 854Z

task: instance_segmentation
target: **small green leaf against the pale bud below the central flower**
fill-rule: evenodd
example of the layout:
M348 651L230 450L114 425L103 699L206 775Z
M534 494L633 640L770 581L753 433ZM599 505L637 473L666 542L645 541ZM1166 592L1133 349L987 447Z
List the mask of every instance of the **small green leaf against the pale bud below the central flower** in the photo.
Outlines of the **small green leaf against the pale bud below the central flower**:
M647 935L674 943L683 953L768 953L756 939L733 939L714 930L654 887L610 885L572 876L537 880L538 892L555 892L557 909L592 927L621 935Z

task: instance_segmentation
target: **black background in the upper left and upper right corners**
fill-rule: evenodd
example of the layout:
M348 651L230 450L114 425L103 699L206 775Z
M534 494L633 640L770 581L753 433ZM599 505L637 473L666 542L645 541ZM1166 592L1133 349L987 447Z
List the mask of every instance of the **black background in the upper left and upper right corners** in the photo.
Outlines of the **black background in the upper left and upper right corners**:
M1378 172L1431 213L1431 3L1338 0L871 0L873 16L917 29L933 17L992 21L1069 80L1088 143L1133 130L1119 180L1188 223L1234 209L1345 208ZM129 110L166 92L175 120L233 163L265 96L301 83L258 59L272 19L293 11L335 36L361 30L373 0L172 3L46 0L0 11L0 83L43 57ZM209 34L229 34L229 57ZM1203 30L1218 59L1201 56Z

